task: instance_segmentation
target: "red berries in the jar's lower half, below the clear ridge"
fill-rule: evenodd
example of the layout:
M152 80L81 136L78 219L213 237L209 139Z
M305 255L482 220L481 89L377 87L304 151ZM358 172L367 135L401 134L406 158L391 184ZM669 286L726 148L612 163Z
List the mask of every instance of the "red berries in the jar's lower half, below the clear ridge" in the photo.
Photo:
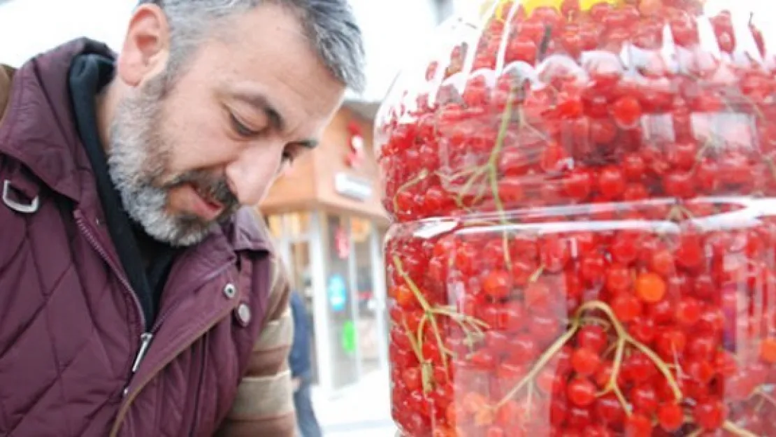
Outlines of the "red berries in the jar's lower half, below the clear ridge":
M776 435L776 218L543 218L390 236L404 435Z

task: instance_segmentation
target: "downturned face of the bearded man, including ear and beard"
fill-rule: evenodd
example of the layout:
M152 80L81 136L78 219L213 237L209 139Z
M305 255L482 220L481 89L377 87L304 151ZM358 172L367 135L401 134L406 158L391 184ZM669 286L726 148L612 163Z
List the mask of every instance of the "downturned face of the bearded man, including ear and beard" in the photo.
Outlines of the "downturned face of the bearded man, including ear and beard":
M129 86L110 123L109 168L148 234L192 245L258 204L283 166L314 147L345 87L275 5L230 19L170 84L165 44L146 37L165 20L154 24L149 10L133 17L117 66Z

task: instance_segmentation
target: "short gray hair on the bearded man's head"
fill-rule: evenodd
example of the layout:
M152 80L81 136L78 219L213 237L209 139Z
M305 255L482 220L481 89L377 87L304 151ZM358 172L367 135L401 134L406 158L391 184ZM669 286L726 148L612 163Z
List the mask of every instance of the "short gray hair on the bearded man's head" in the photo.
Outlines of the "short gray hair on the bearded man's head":
M168 81L175 80L199 44L219 31L221 19L248 12L264 2L296 14L312 48L326 68L355 92L365 87L361 29L348 0L140 0L158 5L171 29Z

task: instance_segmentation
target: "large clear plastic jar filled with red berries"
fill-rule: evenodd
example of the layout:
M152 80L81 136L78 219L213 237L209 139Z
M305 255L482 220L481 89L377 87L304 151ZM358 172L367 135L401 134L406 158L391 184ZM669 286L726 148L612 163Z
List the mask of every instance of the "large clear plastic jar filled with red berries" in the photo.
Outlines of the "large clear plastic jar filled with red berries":
M488 2L400 73L404 436L776 435L774 38L736 3Z

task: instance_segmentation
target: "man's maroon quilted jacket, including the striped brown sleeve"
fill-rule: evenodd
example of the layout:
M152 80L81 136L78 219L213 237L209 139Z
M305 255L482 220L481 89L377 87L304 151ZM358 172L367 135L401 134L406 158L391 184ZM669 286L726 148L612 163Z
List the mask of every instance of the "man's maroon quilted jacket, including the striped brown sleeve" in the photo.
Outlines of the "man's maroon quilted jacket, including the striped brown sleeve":
M0 68L0 435L293 435L288 286L254 211L176 258L144 332L69 103L85 53L112 56Z

